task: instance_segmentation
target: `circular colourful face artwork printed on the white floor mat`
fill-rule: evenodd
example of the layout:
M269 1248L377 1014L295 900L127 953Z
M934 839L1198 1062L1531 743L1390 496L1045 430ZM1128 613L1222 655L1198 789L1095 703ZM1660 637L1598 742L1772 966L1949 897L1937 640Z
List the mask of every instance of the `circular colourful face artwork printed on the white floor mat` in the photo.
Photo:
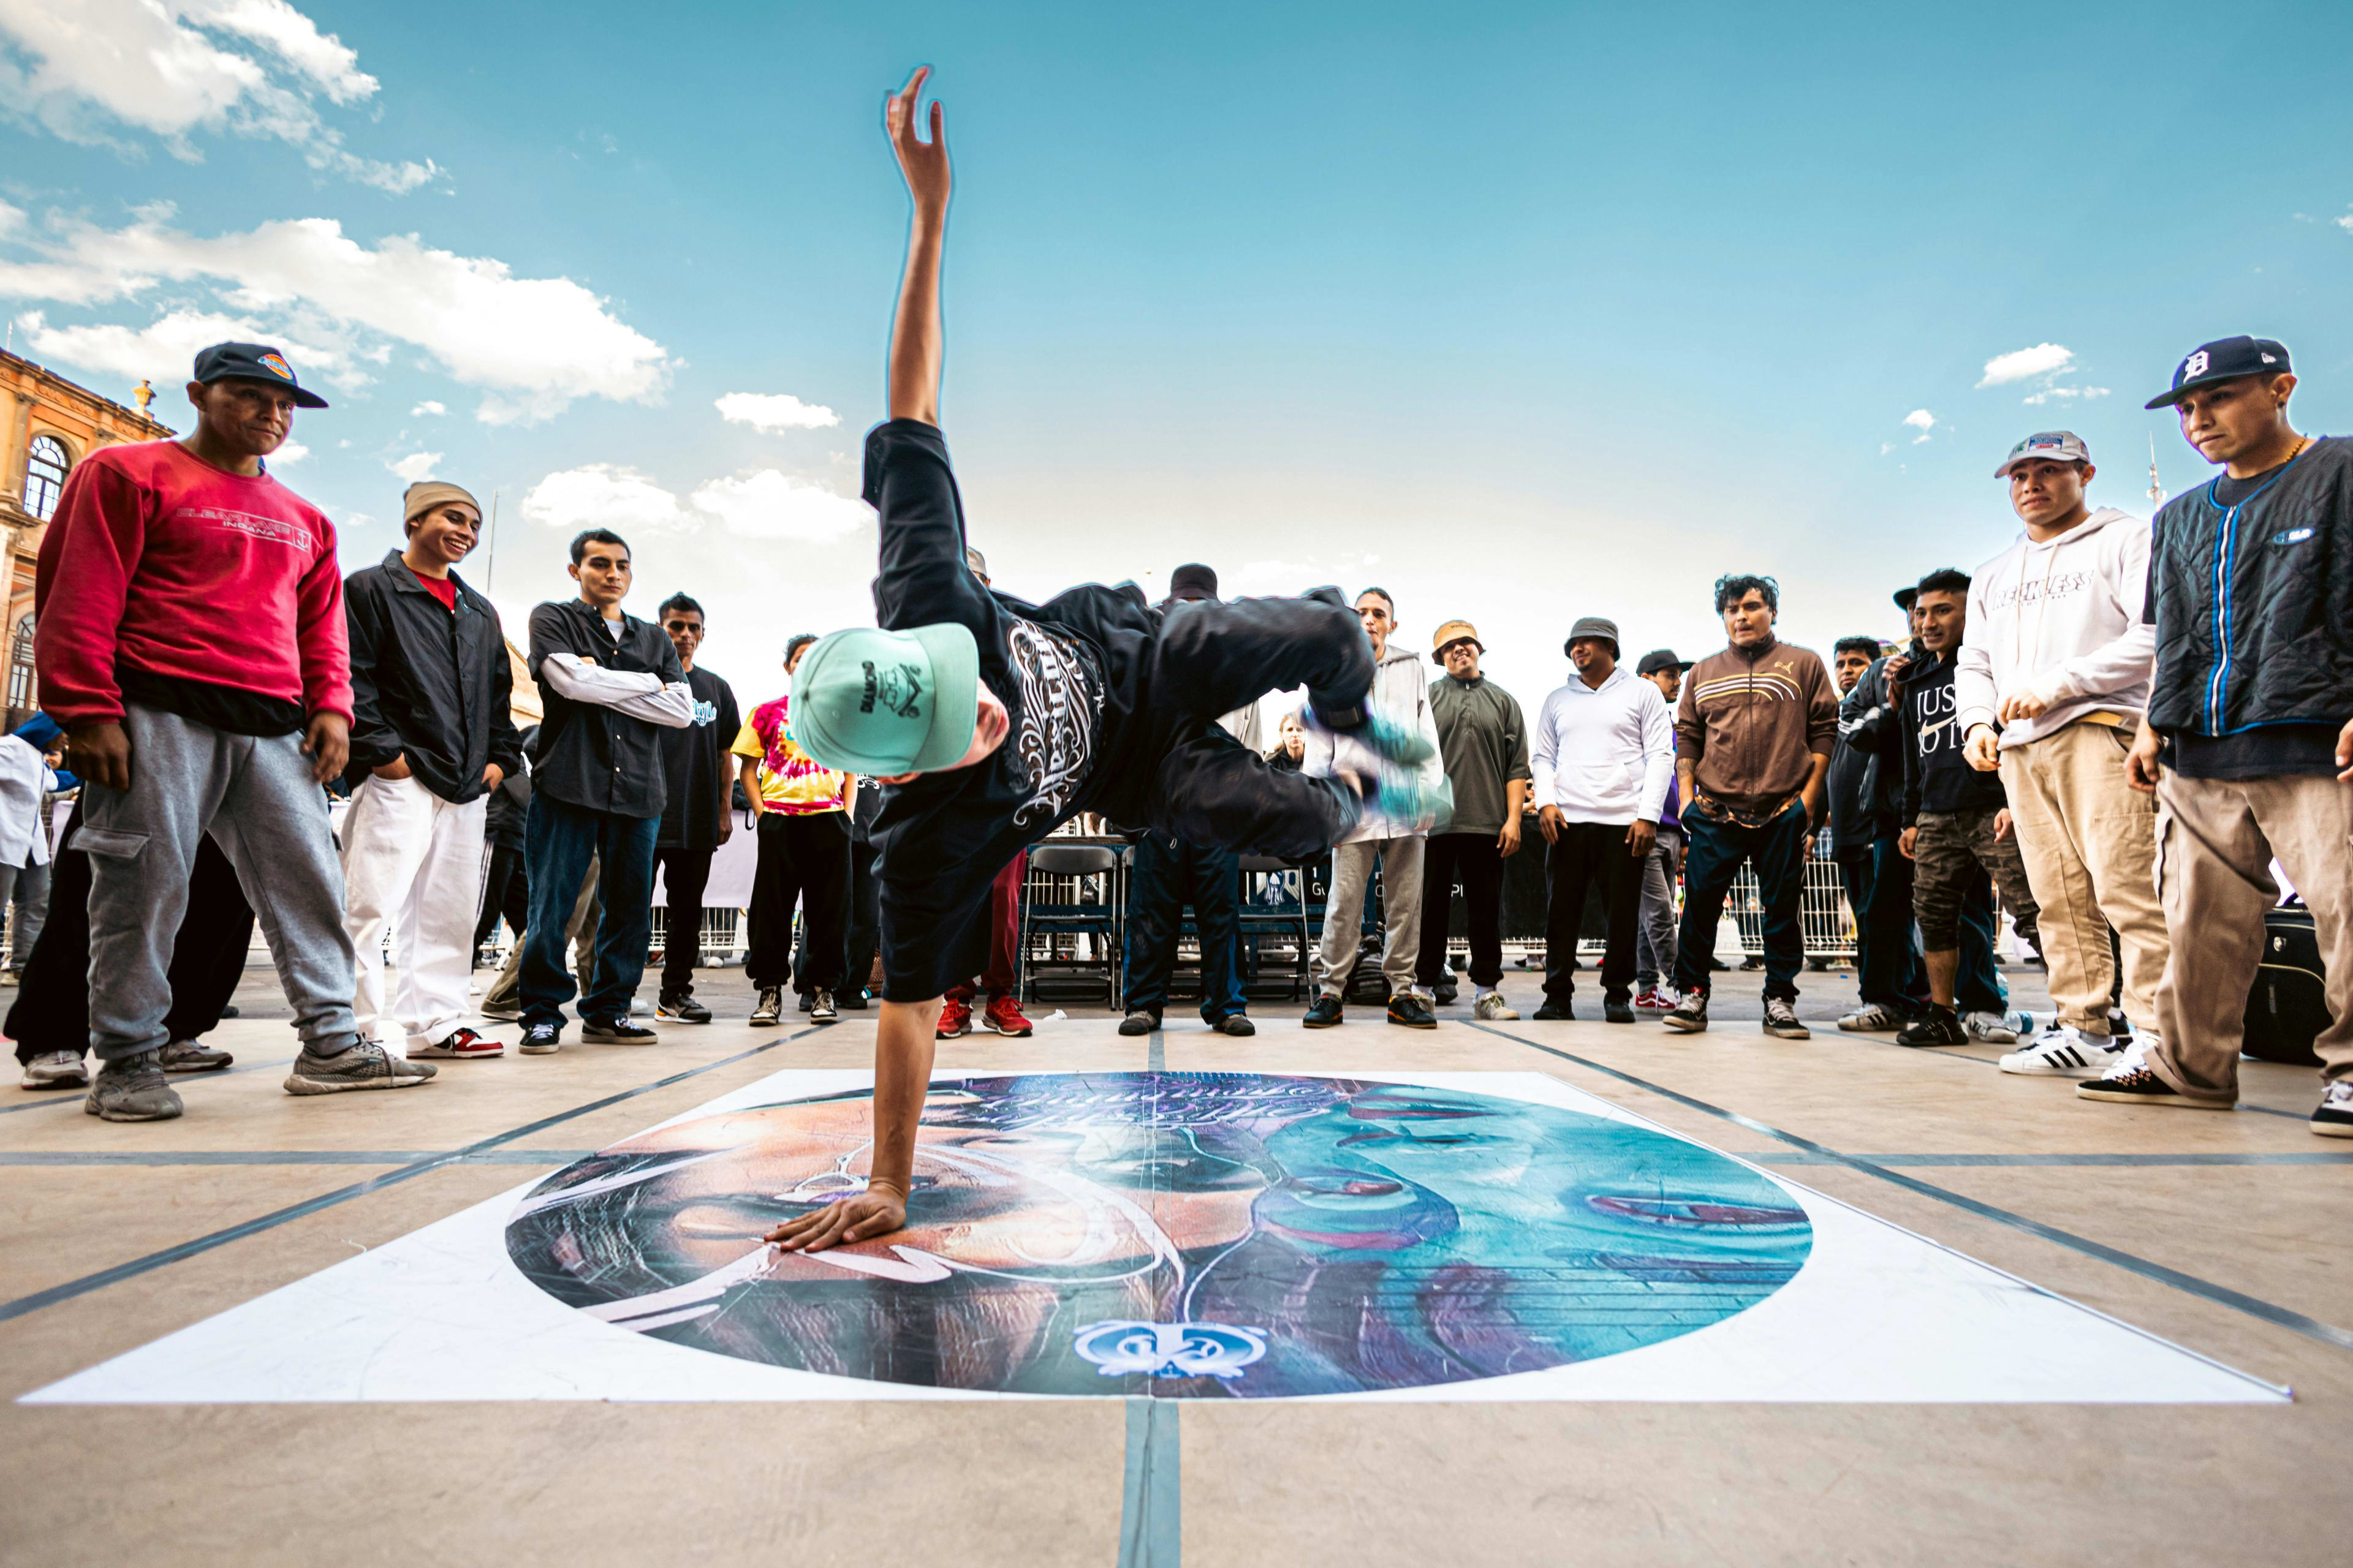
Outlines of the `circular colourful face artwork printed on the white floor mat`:
M1007 1394L1268 1399L1532 1373L1744 1312L1805 1262L1772 1180L1461 1088L1254 1072L932 1086L908 1227L779 1253L866 1185L868 1091L558 1171L506 1225L539 1288L673 1345Z

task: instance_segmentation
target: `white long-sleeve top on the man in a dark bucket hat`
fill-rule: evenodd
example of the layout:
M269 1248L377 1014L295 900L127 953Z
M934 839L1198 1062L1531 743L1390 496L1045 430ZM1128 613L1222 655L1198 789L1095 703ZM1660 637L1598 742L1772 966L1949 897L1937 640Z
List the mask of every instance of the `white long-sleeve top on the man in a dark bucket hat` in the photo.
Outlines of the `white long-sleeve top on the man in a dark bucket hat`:
M1675 719L1659 686L1626 665L1600 686L1560 686L1527 738L1537 806L1572 823L1657 823L1675 780Z

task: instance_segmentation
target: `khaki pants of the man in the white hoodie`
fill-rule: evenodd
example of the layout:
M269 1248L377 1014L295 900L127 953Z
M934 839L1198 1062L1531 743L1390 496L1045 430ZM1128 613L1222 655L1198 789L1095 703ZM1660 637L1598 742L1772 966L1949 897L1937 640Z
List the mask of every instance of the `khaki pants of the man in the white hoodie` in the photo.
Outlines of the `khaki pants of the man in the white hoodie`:
M2125 950L2125 1016L2155 1027L2165 978L2165 912L2158 907L2158 802L2125 783L2134 731L2068 724L2002 750L2009 823L2040 907L2059 1023L2108 1032L2115 957Z

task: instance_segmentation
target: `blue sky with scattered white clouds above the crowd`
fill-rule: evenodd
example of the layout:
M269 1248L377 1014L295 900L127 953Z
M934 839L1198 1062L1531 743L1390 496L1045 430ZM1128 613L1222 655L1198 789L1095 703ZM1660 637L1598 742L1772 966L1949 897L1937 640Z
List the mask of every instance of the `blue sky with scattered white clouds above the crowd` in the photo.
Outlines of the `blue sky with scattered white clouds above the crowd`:
M2139 407L2202 339L2285 339L2301 428L2353 423L2341 5L162 2L0 0L16 350L172 418L205 324L301 343L336 407L280 475L348 564L402 461L499 494L511 614L612 522L633 609L701 597L746 701L871 616L845 498L915 61L958 167L944 425L1014 592L1379 581L1534 703L1581 614L1715 646L1725 569L1784 581L1793 639L1892 632L1889 588L2014 534L2028 430L2146 510L2151 435L2205 475Z

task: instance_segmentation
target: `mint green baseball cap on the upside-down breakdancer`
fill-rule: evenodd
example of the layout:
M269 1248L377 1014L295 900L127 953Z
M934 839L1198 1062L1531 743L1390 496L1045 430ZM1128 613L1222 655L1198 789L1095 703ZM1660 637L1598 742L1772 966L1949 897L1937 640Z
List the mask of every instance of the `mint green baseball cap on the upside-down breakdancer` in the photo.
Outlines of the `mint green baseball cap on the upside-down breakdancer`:
M828 632L793 672L788 733L842 773L927 773L972 748L981 644L944 621L904 632Z

